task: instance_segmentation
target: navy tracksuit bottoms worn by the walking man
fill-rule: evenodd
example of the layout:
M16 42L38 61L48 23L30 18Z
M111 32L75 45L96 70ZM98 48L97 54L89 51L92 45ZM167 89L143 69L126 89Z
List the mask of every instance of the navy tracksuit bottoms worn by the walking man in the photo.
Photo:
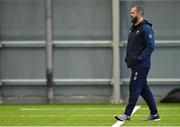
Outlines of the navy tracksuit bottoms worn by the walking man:
M131 79L129 84L129 101L126 107L125 113L128 116L131 116L131 113L138 101L139 95L147 103L150 114L157 114L156 103L153 98L152 92L150 91L149 86L147 85L147 75L149 72L149 68L145 68L142 66L131 68Z

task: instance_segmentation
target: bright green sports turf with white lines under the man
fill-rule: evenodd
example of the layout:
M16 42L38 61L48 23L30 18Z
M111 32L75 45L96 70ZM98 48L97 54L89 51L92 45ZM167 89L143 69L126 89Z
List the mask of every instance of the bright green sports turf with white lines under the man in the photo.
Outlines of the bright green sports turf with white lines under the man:
M148 107L141 107L122 126L180 126L180 104L158 104L161 121L147 122ZM0 105L0 126L112 126L125 105L60 104Z

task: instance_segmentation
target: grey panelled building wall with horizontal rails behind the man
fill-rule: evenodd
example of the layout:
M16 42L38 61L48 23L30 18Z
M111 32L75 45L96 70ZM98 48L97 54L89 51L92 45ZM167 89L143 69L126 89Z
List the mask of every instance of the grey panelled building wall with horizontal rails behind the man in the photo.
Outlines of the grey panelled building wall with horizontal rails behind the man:
M144 7L145 18L153 24L156 49L148 83L159 100L180 86L180 2L120 1L119 66L124 101L128 97L126 80L130 76L124 57L131 25L130 9L135 4ZM44 8L42 0L0 0L0 98L5 103L46 103ZM112 34L111 0L53 1L56 103L113 102L112 46L98 43L111 42ZM158 81L153 82L154 79Z

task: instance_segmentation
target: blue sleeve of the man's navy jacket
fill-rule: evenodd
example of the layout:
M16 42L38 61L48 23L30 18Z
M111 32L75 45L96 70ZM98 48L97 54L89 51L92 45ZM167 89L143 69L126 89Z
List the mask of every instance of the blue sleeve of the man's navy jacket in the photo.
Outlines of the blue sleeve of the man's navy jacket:
M146 47L139 54L138 60L144 60L144 59L150 57L151 53L153 52L153 50L155 48L154 32L153 32L152 28L149 25L144 25L142 27L142 34L143 34L144 41L146 43Z

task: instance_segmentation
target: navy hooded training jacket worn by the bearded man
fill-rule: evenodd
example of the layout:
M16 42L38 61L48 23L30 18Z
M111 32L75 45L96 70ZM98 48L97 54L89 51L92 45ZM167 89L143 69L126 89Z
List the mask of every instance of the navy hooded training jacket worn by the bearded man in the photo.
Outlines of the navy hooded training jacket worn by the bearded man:
M137 26L132 25L128 37L126 50L126 64L128 68L143 66L150 68L151 53L155 48L152 24L143 20Z

